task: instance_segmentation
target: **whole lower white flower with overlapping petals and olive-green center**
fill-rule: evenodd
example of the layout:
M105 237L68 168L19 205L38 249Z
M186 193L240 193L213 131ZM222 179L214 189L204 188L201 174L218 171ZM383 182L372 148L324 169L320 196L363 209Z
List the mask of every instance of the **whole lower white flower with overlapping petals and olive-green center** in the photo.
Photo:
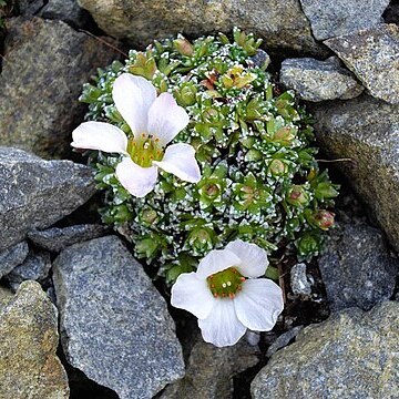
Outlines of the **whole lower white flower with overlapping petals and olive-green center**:
M241 239L211 250L196 272L172 287L172 305L198 318L203 338L217 347L236 344L246 329L268 331L283 311L280 287L264 276L267 254Z

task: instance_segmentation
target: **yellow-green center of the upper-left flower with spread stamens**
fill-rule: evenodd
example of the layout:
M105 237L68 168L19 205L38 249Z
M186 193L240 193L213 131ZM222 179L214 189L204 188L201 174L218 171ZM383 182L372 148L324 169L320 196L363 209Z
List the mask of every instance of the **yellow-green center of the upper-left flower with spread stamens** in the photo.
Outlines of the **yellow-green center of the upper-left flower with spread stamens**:
M127 153L132 161L142 167L150 167L153 161L163 158L160 139L144 133L139 139L129 140Z

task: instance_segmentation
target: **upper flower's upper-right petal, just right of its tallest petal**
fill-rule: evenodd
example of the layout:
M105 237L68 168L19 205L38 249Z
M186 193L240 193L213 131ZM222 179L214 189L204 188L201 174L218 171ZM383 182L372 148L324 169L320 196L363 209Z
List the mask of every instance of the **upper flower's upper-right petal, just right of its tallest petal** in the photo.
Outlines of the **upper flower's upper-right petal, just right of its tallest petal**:
M149 133L160 139L161 145L171 142L187 124L190 117L170 93L162 93L149 112Z

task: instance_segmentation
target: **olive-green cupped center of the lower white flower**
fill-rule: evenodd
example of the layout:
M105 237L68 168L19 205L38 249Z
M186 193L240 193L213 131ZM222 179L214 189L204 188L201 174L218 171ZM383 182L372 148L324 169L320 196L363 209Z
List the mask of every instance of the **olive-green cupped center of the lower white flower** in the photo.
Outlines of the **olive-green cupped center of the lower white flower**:
M233 299L237 291L242 289L245 277L235 267L229 267L208 276L206 282L215 298L229 297Z

